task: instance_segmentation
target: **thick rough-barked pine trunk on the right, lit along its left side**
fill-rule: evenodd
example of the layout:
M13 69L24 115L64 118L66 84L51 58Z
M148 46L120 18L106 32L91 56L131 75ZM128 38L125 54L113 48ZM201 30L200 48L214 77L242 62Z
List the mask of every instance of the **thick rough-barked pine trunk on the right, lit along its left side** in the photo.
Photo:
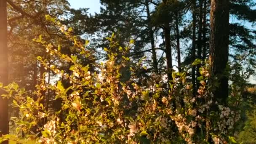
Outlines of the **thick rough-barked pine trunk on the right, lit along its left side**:
M210 43L210 75L217 77L220 85L213 91L214 100L226 104L228 97L228 77L225 69L229 54L229 0L211 1L211 43Z

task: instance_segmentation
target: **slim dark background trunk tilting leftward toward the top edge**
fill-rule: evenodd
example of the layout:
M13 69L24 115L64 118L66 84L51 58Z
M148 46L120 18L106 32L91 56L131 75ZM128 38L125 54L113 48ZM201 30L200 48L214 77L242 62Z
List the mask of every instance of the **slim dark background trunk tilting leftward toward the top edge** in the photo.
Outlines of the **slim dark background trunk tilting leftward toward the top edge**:
M155 50L154 32L153 32L153 29L152 29L152 24L150 24L151 16L150 16L150 11L149 11L149 2L148 2L148 0L146 1L146 9L147 9L149 38L150 38L150 43L151 43L151 48L152 48L153 67L155 69L155 72L157 72L158 71L157 53L156 53L156 50Z

